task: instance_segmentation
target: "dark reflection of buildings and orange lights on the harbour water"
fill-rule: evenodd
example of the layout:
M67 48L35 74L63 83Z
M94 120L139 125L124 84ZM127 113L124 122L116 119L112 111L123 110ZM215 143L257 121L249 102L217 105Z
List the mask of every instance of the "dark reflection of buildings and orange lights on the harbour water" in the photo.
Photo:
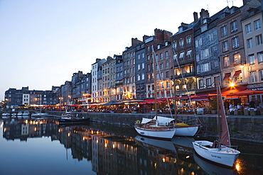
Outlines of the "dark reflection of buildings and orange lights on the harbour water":
M173 137L171 141L164 141L139 135L133 137L131 133L134 132L134 128L114 127L114 131L111 132L112 127L102 127L100 124L58 124L57 120L48 118L7 119L0 123L0 126L6 140L24 142L29 137L43 136L58 140L65 147L65 159L73 157L78 161L90 161L92 171L97 174L247 174L249 171L254 174L262 173L262 170L252 168L255 162L247 155L237 159L234 169L225 169L201 159L193 150L193 137ZM258 166L260 167L260 164Z

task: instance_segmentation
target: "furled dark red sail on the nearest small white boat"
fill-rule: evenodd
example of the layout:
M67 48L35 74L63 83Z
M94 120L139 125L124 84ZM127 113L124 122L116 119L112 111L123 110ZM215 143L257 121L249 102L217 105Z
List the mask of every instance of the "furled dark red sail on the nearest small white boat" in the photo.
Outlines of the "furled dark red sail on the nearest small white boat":
M219 86L218 86L218 94L220 96L219 102L220 102L221 130L222 130L220 143L222 145L230 146L231 144L230 144L230 135L229 135L229 131L228 131L228 125L227 125L227 118L225 117L225 109L223 106L222 94L221 94L221 90L220 90Z

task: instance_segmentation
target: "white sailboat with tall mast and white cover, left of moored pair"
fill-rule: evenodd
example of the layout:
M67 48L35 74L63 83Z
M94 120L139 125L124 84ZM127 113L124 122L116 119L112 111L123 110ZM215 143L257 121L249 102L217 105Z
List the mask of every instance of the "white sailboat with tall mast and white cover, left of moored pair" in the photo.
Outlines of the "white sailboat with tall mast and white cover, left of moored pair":
M154 58L154 49L153 49L153 60L154 60L154 100L155 100L155 117L153 119L150 118L142 118L142 121L137 120L134 128L139 135L144 137L153 137L158 139L168 139L174 135L175 128L173 127L174 118L165 118L161 116L157 116L157 105L156 105L156 74L155 74L155 60Z

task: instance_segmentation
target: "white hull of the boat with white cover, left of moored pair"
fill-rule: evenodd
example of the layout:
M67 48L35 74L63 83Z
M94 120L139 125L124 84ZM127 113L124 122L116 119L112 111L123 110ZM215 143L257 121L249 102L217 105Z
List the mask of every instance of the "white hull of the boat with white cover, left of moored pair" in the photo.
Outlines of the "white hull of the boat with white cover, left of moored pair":
M174 129L169 130L149 130L140 128L139 126L134 127L136 132L138 132L139 135L145 136L145 137L154 137L154 138L161 138L161 139L171 139L174 135Z

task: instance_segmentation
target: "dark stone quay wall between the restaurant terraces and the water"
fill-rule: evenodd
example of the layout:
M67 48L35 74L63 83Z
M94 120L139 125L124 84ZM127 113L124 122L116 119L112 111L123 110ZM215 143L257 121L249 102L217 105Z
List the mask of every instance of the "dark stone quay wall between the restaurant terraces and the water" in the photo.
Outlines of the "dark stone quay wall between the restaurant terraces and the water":
M53 112L53 111L51 111ZM61 112L58 112L58 114ZM50 113L51 114L51 113ZM87 118L97 123L133 126L136 120L153 118L151 113L74 113L79 117ZM200 136L218 135L217 115L197 115L202 127L198 132ZM193 120L195 115L178 115L179 120ZM236 140L263 142L263 116L231 115L227 118L230 137Z

